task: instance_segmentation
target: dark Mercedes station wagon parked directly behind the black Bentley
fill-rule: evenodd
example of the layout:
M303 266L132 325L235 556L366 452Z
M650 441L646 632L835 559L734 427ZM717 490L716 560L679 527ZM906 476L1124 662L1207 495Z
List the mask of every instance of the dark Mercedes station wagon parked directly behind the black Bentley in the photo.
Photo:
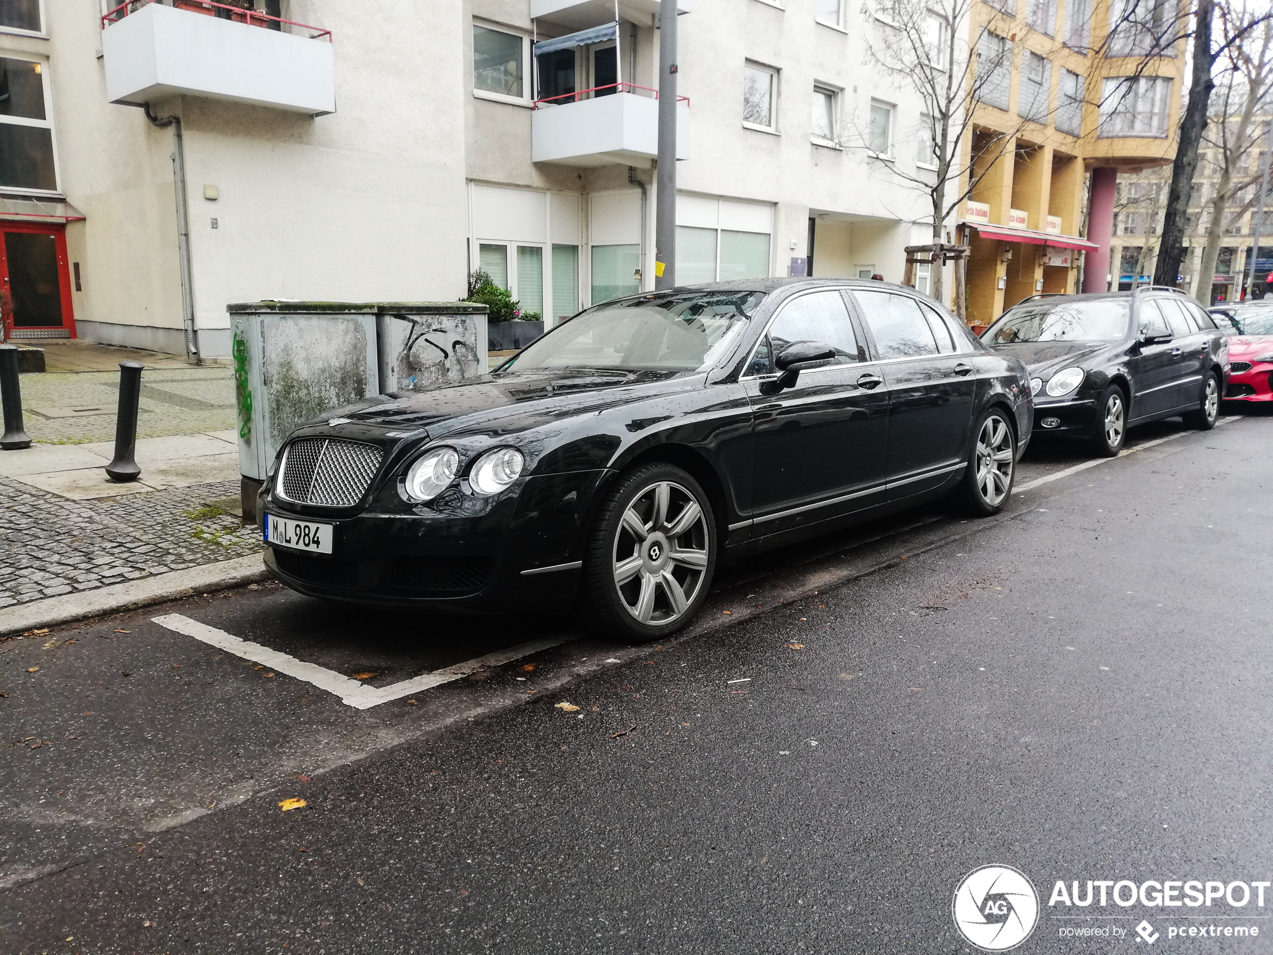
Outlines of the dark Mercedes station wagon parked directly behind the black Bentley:
M1113 457L1132 425L1179 414L1203 430L1216 425L1226 339L1178 289L1034 295L981 340L1029 368L1035 434L1081 438Z

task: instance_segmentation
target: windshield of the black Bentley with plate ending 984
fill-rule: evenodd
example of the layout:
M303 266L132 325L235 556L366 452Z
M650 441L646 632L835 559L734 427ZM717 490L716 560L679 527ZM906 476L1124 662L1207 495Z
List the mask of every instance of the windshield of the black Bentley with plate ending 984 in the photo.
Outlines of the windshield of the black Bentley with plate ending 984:
M651 293L577 315L500 371L622 368L695 372L737 343L760 292Z

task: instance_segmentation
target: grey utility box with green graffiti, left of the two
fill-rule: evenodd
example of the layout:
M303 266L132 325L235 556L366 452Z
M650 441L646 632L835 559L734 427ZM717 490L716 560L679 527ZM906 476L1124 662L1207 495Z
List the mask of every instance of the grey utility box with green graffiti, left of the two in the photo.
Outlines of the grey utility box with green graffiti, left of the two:
M265 480L293 428L377 395L376 304L228 306L239 472Z

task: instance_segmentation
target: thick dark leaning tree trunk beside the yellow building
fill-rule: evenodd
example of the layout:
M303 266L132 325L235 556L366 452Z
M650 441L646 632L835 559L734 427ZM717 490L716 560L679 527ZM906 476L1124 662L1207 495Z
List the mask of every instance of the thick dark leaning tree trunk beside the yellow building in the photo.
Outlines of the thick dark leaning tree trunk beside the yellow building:
M1216 81L1211 78L1216 55L1211 48L1211 20L1214 0L1198 0L1194 15L1193 76L1189 102L1180 124L1176 159L1171 164L1171 188L1167 192L1167 214L1162 219L1162 238L1158 261L1153 269L1155 285L1175 285L1184 256L1185 224L1189 219L1189 194L1193 192L1194 173L1198 169L1198 148L1207 129L1207 111Z

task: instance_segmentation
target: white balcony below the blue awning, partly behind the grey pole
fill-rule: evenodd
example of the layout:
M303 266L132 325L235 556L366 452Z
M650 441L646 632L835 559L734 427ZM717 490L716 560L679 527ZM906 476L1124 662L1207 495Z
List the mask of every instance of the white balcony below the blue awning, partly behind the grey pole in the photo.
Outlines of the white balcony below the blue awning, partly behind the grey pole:
M635 89L624 84L626 89ZM676 104L676 158L686 159L689 102ZM612 93L593 99L536 103L531 113L531 159L563 166L645 166L658 155L658 101Z

